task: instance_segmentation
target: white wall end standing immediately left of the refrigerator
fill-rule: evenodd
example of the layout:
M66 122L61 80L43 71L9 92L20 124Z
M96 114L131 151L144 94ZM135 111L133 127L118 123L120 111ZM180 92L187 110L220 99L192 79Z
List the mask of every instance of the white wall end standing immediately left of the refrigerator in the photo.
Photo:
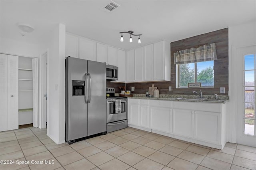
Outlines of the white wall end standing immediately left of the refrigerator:
M50 33L48 45L47 135L57 144L65 142L65 38L59 24Z

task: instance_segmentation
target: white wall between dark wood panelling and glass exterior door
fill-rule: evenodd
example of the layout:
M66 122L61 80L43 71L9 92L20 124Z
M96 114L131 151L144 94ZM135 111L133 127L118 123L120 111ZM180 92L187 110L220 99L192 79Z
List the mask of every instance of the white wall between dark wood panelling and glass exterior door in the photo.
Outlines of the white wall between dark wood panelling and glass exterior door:
M241 83L237 79L236 68L241 65L236 60L237 49L250 45L256 45L256 22L250 22L238 26L232 26L228 29L228 43L229 43L229 92L230 102L228 103L228 141L236 143L236 115L237 100L241 96L237 96L236 85Z

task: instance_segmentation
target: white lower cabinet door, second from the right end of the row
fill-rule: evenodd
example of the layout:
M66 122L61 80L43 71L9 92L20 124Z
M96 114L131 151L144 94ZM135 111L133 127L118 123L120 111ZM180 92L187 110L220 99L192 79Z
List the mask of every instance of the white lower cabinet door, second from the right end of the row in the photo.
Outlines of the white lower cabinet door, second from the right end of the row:
M186 137L194 136L194 111L173 109L173 133Z

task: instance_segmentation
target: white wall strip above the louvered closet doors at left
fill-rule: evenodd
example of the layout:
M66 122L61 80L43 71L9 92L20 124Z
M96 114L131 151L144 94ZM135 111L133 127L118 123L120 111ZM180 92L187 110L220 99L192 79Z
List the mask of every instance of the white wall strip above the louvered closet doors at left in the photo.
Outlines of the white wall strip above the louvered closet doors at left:
M42 45L1 38L1 53L24 57L39 57Z

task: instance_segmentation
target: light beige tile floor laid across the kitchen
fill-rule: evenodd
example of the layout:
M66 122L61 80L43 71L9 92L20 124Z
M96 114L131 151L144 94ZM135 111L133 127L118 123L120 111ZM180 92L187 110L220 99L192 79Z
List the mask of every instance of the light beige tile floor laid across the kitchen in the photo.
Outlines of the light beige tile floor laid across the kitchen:
M130 127L57 145L46 129L31 127L0 132L0 160L14 160L1 170L256 170L256 148L218 150Z

